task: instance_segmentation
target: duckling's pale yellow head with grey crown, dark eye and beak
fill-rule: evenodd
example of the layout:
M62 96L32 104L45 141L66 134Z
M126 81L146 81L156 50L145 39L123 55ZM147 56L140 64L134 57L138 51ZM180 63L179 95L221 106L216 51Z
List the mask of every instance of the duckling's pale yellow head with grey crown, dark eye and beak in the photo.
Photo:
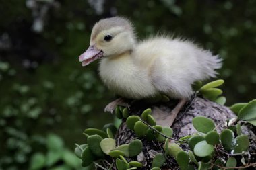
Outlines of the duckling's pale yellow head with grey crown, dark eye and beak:
M135 46L133 26L123 17L110 17L97 22L92 28L90 46L79 56L82 66L102 57L118 56Z

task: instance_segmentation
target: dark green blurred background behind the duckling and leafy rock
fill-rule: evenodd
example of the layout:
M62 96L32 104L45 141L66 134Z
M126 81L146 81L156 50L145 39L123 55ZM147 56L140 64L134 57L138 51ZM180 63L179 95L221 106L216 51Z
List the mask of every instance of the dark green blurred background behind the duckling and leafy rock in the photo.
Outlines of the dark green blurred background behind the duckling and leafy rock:
M255 11L254 0L0 0L0 170L82 169L83 130L113 121L97 62L78 61L98 19L129 17L139 39L172 33L220 54L231 105L256 98Z

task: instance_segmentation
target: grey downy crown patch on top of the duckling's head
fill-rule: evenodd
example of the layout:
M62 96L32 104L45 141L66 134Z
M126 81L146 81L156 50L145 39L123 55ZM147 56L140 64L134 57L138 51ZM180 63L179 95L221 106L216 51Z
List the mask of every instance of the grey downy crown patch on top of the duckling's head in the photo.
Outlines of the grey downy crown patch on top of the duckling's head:
M115 26L121 26L131 32L133 32L133 26L128 19L124 17L109 17L106 19L101 19L92 28L91 40L94 40L96 36L103 30L108 30Z

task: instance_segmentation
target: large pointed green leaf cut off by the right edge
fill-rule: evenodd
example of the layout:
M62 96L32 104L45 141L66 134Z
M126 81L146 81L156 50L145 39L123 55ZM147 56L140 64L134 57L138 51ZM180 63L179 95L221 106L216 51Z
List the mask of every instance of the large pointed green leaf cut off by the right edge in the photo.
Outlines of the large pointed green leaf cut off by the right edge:
M256 99L250 101L240 110L238 120L256 120Z

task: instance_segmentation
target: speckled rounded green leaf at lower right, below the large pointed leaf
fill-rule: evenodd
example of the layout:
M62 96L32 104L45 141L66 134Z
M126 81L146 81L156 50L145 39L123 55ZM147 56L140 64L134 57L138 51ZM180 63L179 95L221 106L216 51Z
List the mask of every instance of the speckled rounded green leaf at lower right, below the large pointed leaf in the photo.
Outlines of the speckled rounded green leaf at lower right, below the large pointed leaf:
M243 151L247 151L249 148L249 137L245 134L237 136L235 138L236 144L234 145L234 153L242 153Z

